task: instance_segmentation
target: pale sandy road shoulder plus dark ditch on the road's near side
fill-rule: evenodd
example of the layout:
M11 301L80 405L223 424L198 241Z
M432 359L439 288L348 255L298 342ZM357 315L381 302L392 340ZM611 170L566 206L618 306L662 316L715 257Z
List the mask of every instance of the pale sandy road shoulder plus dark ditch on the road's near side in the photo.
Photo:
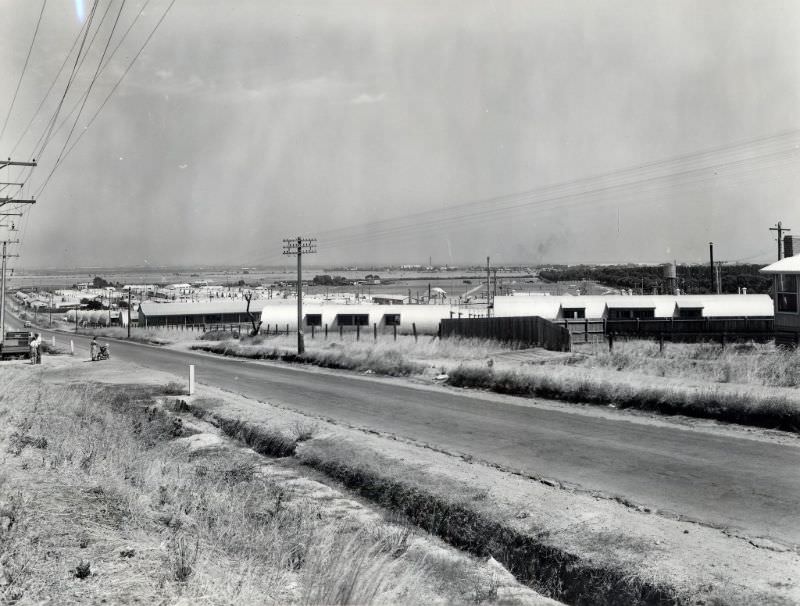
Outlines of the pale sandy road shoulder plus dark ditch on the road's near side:
M291 457L570 604L795 603L798 554L263 402L205 390L191 412Z

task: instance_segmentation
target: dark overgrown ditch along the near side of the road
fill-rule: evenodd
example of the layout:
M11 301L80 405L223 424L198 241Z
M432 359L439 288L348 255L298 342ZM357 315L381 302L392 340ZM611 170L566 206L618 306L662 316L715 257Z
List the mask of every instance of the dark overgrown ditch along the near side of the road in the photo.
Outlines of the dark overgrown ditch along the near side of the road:
M486 494L442 478L413 473L378 453L353 452L335 438L306 432L288 436L277 427L230 418L198 401L192 413L270 456L296 456L303 464L342 482L363 497L398 512L451 545L491 556L521 582L567 603L672 604L676 591L548 544L547 533L523 533L480 507ZM302 443L302 444L301 444ZM476 506L478 505L478 506Z

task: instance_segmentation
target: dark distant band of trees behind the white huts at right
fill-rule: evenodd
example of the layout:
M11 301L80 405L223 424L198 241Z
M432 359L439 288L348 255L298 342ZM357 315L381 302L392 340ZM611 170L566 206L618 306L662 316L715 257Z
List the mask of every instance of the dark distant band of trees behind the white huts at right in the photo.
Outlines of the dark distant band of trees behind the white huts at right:
M748 293L768 294L772 289L772 279L758 273L763 265L741 264L723 265L720 269L722 292L737 293L746 288ZM579 282L591 280L604 286L617 289L632 289L645 294L653 292L665 293L666 280L662 265L573 265L570 267L552 267L539 272L539 277L547 282ZM677 267L677 287L685 293L710 293L711 269L707 265L679 265Z

